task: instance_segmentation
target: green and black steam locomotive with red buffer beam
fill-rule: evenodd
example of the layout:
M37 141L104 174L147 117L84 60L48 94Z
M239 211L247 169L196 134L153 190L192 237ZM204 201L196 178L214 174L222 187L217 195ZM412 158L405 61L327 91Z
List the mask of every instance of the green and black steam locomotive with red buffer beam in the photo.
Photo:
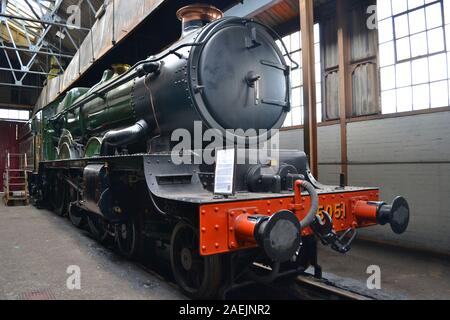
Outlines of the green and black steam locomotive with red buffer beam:
M404 198L388 205L377 188L322 185L303 152L252 162L254 142L270 141L290 111L279 36L207 5L177 14L183 33L172 46L133 67L115 65L92 88L74 88L34 114L22 148L34 158L36 206L67 214L128 258L144 242L167 249L177 284L197 299L310 266L320 277L318 240L346 253L358 228L406 230ZM176 152L187 161L175 163L173 133L195 135L195 124L233 151L231 192L217 192L219 164L200 156L221 148L192 141L197 148Z

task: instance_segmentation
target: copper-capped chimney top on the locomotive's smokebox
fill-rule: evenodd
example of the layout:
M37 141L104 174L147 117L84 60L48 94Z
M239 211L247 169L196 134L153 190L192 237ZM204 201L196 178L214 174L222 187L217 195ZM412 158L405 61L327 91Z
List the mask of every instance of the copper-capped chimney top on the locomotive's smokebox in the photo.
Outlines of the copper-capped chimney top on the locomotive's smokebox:
M223 17L223 12L208 4L191 4L177 11L183 24L183 34Z

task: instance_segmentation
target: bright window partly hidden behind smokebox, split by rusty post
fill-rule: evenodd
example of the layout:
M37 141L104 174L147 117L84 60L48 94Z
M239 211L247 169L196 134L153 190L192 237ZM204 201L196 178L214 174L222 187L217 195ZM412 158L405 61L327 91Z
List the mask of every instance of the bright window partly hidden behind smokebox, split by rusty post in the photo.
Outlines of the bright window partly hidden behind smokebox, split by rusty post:
M301 32L297 31L283 38L291 58L300 66L297 70L291 73L291 112L287 115L284 127L299 126L303 124L303 68L302 68L302 49L301 49ZM278 43L281 48L281 44ZM284 53L284 49L282 49ZM321 88L321 61L320 61L320 27L319 24L314 25L314 52L315 52L315 67L316 67L316 102L317 102L317 121L322 122L322 88ZM285 56L286 57L286 56ZM286 57L286 62L292 67L295 64L291 63Z

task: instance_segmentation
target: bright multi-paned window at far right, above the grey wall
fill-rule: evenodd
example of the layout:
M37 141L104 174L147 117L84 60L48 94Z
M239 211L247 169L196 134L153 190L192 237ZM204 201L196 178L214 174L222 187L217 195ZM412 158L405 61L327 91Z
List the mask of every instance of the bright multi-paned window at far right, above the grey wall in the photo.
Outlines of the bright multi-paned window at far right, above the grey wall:
M384 114L449 105L450 0L378 0Z

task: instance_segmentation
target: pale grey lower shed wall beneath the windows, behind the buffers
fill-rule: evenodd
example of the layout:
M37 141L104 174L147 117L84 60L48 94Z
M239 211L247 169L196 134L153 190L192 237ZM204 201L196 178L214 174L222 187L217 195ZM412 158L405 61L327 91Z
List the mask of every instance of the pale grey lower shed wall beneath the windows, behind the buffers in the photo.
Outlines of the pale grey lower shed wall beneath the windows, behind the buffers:
M391 201L405 196L410 227L396 236L389 227L360 232L374 241L450 254L450 111L348 124L349 184L381 187ZM318 128L319 176L338 184L339 125ZM283 131L280 146L303 149L303 129Z

